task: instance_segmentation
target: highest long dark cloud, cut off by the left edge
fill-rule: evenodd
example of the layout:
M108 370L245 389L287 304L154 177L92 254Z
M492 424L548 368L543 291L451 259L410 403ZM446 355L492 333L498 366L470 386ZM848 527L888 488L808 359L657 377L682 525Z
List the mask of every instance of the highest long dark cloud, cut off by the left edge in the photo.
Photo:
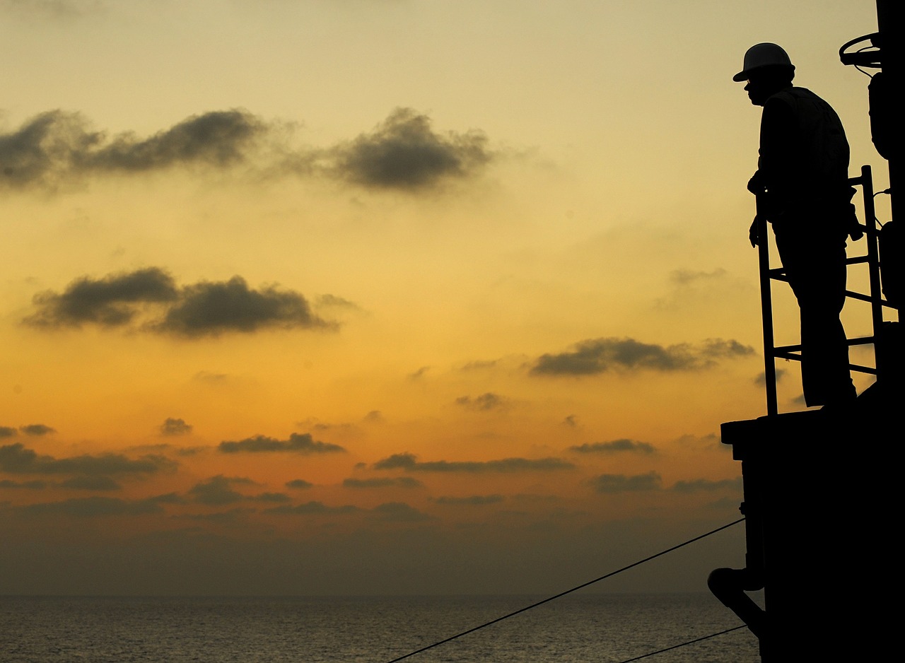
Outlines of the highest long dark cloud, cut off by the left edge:
M267 131L259 118L233 109L186 118L148 138L131 132L108 138L79 113L50 110L0 134L0 188L53 189L92 174L234 166Z

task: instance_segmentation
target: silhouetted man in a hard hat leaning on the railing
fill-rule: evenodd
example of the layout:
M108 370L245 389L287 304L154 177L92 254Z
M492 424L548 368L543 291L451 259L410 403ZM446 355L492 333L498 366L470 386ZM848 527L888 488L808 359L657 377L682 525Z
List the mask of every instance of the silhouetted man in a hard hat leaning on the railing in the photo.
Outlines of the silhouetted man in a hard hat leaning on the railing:
M763 106L757 172L748 191L773 225L776 248L801 309L802 383L808 406L855 397L839 314L845 303L845 239L861 232L848 185L849 147L839 116L792 85L795 66L775 43L745 53L733 81ZM749 232L757 245L757 219ZM766 238L762 238L765 239Z

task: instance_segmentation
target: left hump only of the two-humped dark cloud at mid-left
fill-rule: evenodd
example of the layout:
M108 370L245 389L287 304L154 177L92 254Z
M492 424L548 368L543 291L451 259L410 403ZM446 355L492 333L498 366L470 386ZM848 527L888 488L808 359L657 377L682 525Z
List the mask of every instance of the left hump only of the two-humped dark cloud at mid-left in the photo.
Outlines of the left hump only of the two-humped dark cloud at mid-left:
M157 267L110 274L101 279L75 279L61 294L47 290L33 298L37 311L24 322L36 327L101 327L129 324L143 304L173 302L178 289L173 277Z

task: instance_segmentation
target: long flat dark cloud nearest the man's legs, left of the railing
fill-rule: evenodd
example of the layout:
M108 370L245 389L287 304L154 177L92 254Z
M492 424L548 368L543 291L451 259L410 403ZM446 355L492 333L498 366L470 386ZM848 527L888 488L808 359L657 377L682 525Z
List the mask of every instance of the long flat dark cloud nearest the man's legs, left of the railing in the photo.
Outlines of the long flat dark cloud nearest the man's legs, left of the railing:
M703 343L659 346L633 338L593 338L570 351L541 355L531 367L536 375L593 375L614 370L693 371L721 359L752 355L754 348L735 340L709 338Z

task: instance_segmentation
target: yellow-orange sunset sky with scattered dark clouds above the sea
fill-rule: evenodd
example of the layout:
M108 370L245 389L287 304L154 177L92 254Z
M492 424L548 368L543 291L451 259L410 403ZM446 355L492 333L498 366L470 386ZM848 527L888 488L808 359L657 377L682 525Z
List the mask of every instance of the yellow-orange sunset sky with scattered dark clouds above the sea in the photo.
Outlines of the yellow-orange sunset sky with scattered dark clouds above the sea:
M766 404L732 75L786 47L880 190L837 55L875 30L868 0L0 1L0 593L559 592L736 520L719 424ZM706 591L743 542L598 591Z

